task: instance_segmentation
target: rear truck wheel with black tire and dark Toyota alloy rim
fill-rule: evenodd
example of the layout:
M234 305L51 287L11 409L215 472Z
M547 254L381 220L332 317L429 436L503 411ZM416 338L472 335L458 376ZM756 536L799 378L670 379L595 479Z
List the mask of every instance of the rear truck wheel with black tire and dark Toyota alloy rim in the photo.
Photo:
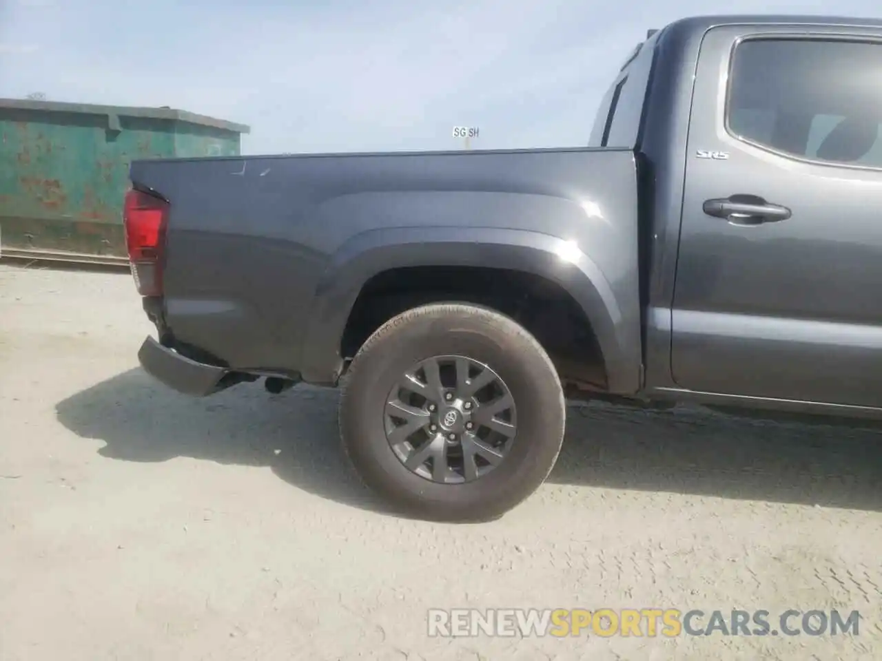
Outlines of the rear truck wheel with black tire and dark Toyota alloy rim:
M437 397L430 386L443 379L430 379L434 364L445 383L454 384ZM480 371L485 368L490 372ZM407 379L408 373L419 376ZM469 392L488 380L483 390ZM415 390L431 396L422 407ZM407 408L401 398L410 402ZM387 406L392 400L395 404ZM432 401L437 402L435 413L430 412ZM513 407L497 411L509 401ZM400 420L412 424L396 430L394 415L405 408L407 417ZM457 412L459 419L450 422ZM408 310L375 331L352 361L340 397L340 436L365 485L392 508L437 521L495 519L533 494L557 461L565 417L560 379L542 345L507 316L455 303ZM424 425L425 420L430 424ZM445 427L447 422L452 427ZM399 441L414 426L416 441L393 449L389 438ZM441 446L448 447L448 439L457 435L447 432L459 436L442 458ZM431 447L420 444L424 438ZM432 458L425 464L405 465L406 459L418 464L426 453Z

